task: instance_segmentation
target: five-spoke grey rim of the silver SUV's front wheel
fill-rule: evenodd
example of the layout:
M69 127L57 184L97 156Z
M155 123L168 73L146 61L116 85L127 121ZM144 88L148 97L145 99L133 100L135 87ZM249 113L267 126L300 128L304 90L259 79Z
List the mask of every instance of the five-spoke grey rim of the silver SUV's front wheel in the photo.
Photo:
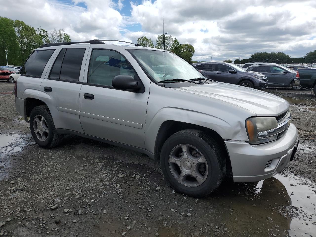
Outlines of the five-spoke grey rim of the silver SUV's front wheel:
M187 187L204 183L208 175L204 155L192 145L180 144L169 155L169 168L175 179Z

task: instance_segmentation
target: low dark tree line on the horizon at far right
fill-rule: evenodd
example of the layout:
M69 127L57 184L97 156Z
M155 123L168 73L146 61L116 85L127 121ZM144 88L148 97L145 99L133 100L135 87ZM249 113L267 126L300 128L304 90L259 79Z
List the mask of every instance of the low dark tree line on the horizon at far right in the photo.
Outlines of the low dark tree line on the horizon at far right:
M232 60L225 60L230 61ZM224 62L225 62L224 61ZM250 62L266 62L266 63L276 63L276 64L310 64L316 63L316 50L308 52L304 57L292 58L289 54L283 52L256 52L250 56L250 58L235 59L234 64L246 64Z

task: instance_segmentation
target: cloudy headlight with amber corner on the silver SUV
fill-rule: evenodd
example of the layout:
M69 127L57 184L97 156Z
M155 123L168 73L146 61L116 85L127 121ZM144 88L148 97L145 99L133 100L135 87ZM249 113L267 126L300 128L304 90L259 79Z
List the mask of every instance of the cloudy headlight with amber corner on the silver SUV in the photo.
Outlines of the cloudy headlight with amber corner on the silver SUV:
M271 142L277 139L277 134L270 137L258 137L258 132L267 131L277 128L275 117L252 117L246 120L246 130L249 138L249 143L256 145L261 143Z

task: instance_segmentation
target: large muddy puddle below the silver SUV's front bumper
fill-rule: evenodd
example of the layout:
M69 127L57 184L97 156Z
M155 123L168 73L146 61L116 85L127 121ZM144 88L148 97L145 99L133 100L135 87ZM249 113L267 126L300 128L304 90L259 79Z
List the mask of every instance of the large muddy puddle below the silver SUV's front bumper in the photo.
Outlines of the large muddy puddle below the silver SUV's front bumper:
M277 174L256 183L223 183L205 201L224 208L219 218L234 230L232 236L316 234L316 184L300 176Z

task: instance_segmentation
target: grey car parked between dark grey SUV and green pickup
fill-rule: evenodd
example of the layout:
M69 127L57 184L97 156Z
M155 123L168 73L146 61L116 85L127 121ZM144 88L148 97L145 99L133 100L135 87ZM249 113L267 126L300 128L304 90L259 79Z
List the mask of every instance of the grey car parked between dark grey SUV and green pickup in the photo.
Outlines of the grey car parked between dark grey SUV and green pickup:
M291 87L293 90L301 90L302 87L297 85L296 71L289 70L281 65L264 64L248 68L248 71L260 72L267 76L269 87Z

